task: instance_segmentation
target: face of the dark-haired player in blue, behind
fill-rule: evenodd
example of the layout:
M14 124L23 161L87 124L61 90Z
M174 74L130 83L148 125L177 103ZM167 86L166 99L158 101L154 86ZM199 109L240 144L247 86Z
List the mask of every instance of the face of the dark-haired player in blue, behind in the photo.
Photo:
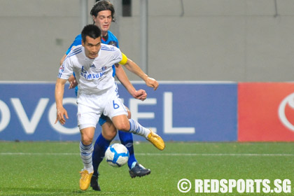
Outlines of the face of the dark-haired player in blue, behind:
M99 11L99 13L97 14L97 18L93 16L93 20L95 22L95 25L97 25L102 30L102 34L107 33L112 21L111 10Z

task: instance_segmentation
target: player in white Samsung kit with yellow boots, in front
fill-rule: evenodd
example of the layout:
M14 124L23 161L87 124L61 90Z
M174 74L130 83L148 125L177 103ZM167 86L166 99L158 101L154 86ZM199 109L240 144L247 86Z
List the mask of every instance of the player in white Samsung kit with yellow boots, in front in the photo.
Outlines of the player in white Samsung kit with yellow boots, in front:
M108 116L118 130L145 137L161 151L165 148L165 142L158 134L141 126L136 120L127 118L127 110L119 99L113 78L113 64L128 64L129 69L134 72L137 72L137 66L132 66L130 59L127 59L118 48L101 43L101 35L101 30L96 25L87 25L83 28L82 45L78 45L66 56L59 68L55 85L57 108L55 123L59 121L64 125L65 118L69 118L62 106L64 84L72 73L75 73L78 83L77 118L81 134L80 157L84 165L80 172L80 190L87 190L94 173L92 139L102 114Z

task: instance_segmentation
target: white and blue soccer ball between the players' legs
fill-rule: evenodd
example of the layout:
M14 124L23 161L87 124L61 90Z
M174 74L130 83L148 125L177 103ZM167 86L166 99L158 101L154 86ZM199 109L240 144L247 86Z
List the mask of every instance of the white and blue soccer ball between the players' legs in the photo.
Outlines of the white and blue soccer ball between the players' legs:
M122 167L129 160L130 153L123 144L112 144L105 152L106 162L112 167Z

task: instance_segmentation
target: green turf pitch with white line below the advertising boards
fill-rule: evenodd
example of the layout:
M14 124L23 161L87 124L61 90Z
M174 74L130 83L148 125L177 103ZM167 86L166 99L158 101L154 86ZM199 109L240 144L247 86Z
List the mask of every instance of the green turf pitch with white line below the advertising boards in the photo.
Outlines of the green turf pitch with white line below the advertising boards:
M102 192L78 188L78 142L0 142L0 195L293 195L292 193L195 193L195 179L290 179L294 143L167 142L164 151L134 144L149 176L131 179L127 166L99 167ZM188 179L188 193L178 182Z

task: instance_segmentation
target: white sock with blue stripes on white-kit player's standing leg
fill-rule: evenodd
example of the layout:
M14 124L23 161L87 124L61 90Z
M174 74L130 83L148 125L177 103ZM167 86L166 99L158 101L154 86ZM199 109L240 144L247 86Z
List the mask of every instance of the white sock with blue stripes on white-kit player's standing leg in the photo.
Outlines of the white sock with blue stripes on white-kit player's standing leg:
M92 173L93 172L93 165L92 165L92 152L94 150L94 147L92 144L89 146L85 146L82 141L80 141L80 158L83 160L84 169L87 170L87 172Z

